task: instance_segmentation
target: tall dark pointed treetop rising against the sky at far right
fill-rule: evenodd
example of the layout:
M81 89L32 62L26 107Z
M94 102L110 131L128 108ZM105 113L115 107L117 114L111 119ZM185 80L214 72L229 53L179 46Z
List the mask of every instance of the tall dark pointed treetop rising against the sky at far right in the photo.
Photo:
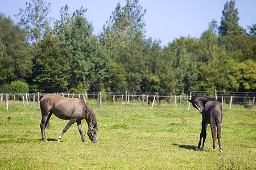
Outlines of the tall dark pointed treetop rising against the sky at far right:
M224 10L221 16L220 34L226 36L229 34L239 34L245 30L238 25L238 9L234 8L235 1L228 1L224 5Z

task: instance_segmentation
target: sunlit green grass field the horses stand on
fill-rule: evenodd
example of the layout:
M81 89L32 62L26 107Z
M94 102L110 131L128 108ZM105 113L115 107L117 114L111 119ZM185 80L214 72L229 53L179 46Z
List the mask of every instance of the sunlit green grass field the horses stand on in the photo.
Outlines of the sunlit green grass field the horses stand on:
M219 152L209 126L204 151L196 150L201 114L195 108L103 103L100 111L96 101L88 104L100 124L98 143L81 142L76 124L57 142L68 121L55 116L43 142L38 108L10 101L6 111L0 103L0 169L256 169L255 108L224 105ZM82 126L89 141L85 120Z

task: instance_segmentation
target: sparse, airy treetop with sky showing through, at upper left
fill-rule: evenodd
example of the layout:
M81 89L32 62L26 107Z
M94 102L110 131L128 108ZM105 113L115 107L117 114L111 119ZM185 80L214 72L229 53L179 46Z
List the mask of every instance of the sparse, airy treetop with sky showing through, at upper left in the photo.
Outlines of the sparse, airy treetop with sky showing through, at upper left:
M31 0L31 3L26 2L27 7L24 10L20 8L19 14L15 15L20 27L24 28L27 41L31 44L38 45L49 25L50 4L46 6L43 0Z

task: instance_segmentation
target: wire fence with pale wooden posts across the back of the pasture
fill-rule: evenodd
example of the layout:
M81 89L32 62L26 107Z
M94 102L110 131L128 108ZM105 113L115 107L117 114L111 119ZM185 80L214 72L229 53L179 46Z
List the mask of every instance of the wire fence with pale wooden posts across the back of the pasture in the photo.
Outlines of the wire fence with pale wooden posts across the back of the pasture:
M0 94L1 102L6 103L8 110L9 101L23 101L24 107L28 103L39 107L40 96L49 93L30 93L30 94ZM148 104L148 96L158 94L160 96L161 105L171 105L172 107L181 108L189 107L187 99L191 95L205 95L216 97L222 104L229 104L230 108L233 104L244 105L245 108L253 108L256 92L226 92L226 91L188 91L188 92L85 92L85 93L54 93L63 97L81 98L86 100L97 100L99 108L102 108L102 102L132 104L141 103L142 106ZM150 103L152 104L152 103ZM156 103L155 103L156 104Z

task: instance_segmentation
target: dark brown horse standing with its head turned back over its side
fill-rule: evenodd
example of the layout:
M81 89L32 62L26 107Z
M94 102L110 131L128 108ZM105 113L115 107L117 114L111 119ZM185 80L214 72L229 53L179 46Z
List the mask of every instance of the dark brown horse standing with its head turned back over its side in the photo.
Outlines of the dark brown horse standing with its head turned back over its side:
M193 104L193 107L199 110L203 116L202 120L202 130L200 134L199 144L197 149L200 149L201 139L203 139L203 145L201 146L201 151L204 150L204 142L207 137L207 125L210 124L210 129L212 131L213 138L213 148L215 148L216 140L216 126L217 126L217 137L218 137L218 150L222 152L221 148L221 122L223 118L223 110L221 103L218 102L215 98L209 96L192 96L192 99L188 101Z

